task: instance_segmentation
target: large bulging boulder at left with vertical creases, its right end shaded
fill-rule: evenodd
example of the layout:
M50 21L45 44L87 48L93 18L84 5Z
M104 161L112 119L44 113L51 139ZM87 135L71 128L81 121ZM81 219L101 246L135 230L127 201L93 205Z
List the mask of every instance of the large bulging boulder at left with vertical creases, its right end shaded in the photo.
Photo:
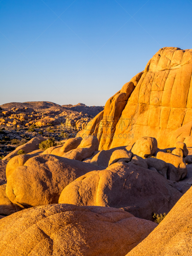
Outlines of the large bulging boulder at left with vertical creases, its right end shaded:
M12 172L7 176L6 194L12 203L22 208L58 203L61 191L70 182L87 172L101 169L60 156L34 156L22 166L15 169L12 166Z

